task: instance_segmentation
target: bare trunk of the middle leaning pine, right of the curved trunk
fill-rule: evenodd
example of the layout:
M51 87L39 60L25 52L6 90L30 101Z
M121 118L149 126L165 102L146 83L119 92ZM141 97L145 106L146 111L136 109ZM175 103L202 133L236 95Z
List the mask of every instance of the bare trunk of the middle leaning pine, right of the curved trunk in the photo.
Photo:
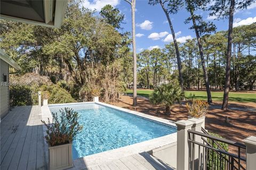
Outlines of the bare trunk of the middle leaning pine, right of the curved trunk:
M201 44L201 37L199 35L198 29L197 29L197 26L196 26L196 20L195 20L194 12L192 11L192 9L190 9L190 14L191 14L193 25L194 25L194 28L195 28L197 44L198 44L198 47L199 47L199 54L200 54L200 57L201 57L202 68L203 68L203 72L204 72L204 81L205 81L206 92L207 92L207 102L210 104L210 103L212 103L212 95L211 95L211 90L210 90L208 73L207 73L207 70L206 70L206 67L205 67L203 46Z

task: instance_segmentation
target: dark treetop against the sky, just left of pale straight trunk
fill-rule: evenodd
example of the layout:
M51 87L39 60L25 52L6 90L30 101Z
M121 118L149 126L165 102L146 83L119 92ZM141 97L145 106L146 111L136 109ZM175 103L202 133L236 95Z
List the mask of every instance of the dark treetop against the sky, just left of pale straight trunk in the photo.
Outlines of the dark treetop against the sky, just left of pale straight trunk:
M124 14L121 14L118 9L114 9L111 5L106 5L102 7L100 15L107 23L109 23L109 25L117 29L121 28L120 25L124 20Z

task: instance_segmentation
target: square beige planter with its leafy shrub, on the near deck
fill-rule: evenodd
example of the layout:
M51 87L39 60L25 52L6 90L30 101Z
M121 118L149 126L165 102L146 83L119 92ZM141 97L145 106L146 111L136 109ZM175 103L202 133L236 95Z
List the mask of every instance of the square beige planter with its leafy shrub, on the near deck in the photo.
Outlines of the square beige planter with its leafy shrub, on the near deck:
M73 109L61 109L60 113L52 113L52 123L41 120L46 126L45 139L49 146L49 166L52 169L73 167L72 141L83 126L78 123L78 112Z

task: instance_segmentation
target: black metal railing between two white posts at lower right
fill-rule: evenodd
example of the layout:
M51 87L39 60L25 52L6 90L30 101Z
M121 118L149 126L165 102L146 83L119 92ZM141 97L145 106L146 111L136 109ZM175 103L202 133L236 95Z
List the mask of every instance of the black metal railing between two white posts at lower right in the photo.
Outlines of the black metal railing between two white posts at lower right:
M190 169L246 169L246 158L242 156L246 149L244 144L210 135L205 129L202 132L188 130ZM196 136L201 140L196 140ZM235 151L228 151L225 145L226 148L232 145Z

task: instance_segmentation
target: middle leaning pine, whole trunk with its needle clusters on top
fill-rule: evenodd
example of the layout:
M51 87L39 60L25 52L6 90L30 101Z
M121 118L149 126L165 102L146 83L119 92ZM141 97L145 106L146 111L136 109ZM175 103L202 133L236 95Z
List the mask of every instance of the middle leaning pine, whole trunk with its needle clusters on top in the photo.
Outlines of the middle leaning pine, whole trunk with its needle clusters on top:
M186 3L187 3L186 9L190 13L190 17L185 22L186 23L188 23L189 21L193 22L193 26L190 27L190 29L194 29L196 33L197 44L199 47L199 54L201 57L202 68L204 72L204 80L205 80L205 86L206 86L206 92L207 92L207 102L210 104L212 103L212 96L211 96L208 73L205 66L201 36L205 33L211 33L212 31L215 31L215 26L213 25L212 22L207 23L203 21L202 16L195 14L195 11L197 9L204 9L207 3L206 1L199 1L199 3L197 3L197 1L186 0Z

